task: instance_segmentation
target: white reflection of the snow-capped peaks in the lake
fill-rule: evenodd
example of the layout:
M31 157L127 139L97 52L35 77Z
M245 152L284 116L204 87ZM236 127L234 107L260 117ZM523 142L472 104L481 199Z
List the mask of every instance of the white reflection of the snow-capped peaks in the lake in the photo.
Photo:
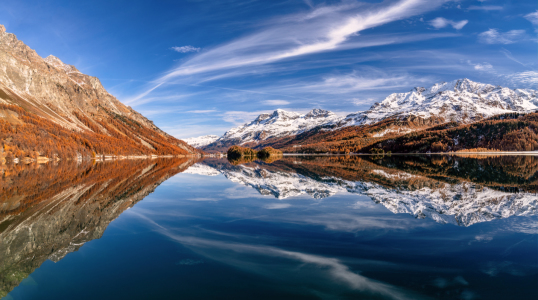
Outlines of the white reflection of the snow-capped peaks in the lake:
M208 166L208 168L211 168ZM238 166L220 168L227 179L256 189L261 195L288 199L309 195L323 199L337 193L370 197L391 212L407 213L415 218L429 218L438 223L470 226L511 216L538 214L538 198L533 193L510 193L481 187L471 182L444 183L438 187L405 188L406 182L431 180L397 170L372 169L371 174L401 183L389 188L369 180L349 181L338 177L314 179L299 173L263 167Z

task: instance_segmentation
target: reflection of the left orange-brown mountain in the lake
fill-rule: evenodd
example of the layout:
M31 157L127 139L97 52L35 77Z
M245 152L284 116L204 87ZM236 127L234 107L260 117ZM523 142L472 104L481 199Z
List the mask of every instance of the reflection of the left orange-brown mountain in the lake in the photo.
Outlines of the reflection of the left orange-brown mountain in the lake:
M45 260L100 238L108 224L194 163L188 158L3 165L0 297Z

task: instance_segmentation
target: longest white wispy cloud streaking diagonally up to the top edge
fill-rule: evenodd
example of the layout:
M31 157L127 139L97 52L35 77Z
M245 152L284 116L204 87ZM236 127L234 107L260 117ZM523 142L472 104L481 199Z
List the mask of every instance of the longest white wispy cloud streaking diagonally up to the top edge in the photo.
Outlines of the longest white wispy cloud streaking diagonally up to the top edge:
M155 85L194 74L228 72L349 49L346 47L360 40L357 36L366 29L425 13L445 2L447 0L400 0L381 4L344 2L274 19L261 24L262 29L258 32L196 55L158 78ZM150 92L141 95L144 97Z

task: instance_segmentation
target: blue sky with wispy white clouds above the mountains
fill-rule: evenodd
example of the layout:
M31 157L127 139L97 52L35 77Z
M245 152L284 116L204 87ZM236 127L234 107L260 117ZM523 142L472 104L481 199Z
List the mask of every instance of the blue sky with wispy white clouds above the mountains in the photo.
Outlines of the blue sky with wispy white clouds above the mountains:
M464 77L538 88L535 0L3 0L0 24L179 138Z

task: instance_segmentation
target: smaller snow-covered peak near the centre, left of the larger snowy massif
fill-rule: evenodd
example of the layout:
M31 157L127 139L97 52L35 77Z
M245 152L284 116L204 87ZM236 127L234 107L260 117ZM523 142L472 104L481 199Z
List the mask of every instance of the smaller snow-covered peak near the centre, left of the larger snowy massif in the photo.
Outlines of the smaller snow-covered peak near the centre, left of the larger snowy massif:
M218 142L259 142L273 137L300 134L338 120L341 120L341 117L322 109L313 109L305 115L277 109L272 114L261 114L250 123L228 130Z

